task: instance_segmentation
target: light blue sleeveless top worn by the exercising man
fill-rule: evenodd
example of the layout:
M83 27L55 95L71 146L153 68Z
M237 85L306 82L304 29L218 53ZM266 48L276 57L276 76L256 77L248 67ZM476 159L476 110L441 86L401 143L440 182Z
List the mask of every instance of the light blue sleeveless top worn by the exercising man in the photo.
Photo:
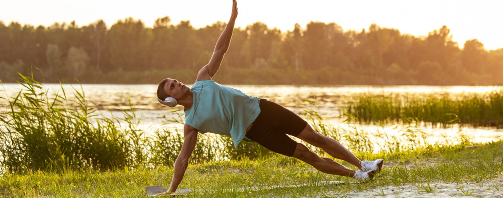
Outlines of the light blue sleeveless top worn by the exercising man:
M232 137L234 146L246 135L246 129L260 113L261 98L220 85L213 80L196 81L191 89L191 108L185 111L185 124L200 133L215 133Z

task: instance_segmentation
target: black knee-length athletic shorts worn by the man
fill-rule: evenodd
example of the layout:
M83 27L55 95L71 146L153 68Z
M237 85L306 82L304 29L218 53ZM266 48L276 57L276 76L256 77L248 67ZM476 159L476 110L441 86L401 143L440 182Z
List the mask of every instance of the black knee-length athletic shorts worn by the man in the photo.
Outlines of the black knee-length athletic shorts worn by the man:
M297 142L287 134L296 137L307 126L307 122L274 102L262 99L259 106L259 116L246 133L246 137L271 151L292 156Z

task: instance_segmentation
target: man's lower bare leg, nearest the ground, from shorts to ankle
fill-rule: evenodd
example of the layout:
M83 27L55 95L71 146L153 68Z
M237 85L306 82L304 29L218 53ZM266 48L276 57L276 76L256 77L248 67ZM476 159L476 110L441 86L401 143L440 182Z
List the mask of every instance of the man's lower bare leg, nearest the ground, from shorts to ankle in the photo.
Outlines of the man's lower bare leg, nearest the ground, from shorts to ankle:
M297 147L295 148L295 152L292 157L300 159L317 170L327 174L353 177L356 172L355 170L351 170L340 163L337 163L333 159L318 156L301 143L297 143Z

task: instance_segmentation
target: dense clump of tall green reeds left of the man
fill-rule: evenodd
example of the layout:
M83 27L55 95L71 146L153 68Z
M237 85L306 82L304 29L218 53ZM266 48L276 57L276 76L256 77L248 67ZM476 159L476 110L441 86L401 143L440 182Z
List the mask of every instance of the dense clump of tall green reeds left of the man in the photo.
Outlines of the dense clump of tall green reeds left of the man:
M135 127L134 109L124 110L121 119L98 117L82 91L74 88L69 99L64 89L49 94L33 74L21 77L24 88L1 98L8 104L0 111L0 166L6 171L108 170L144 163L146 144Z

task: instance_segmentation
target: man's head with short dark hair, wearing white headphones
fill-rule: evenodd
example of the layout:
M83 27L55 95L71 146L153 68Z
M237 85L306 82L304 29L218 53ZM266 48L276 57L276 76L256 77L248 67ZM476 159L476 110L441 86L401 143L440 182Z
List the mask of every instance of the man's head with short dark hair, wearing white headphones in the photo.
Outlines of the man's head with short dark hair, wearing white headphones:
M164 101L168 97L181 100L190 93L190 88L176 79L166 78L157 87L157 98ZM159 101L160 102L160 101ZM162 103L162 102L161 102ZM164 104L164 103L163 103Z

